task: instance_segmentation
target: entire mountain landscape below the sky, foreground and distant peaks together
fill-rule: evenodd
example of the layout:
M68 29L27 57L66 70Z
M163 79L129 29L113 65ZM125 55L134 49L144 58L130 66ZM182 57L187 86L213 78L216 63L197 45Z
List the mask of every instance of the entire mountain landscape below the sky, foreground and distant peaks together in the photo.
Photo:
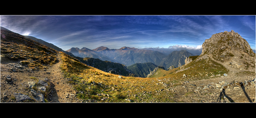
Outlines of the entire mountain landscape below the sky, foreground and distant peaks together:
M195 56L129 47L58 51L1 30L1 102L255 103L255 53L233 31L214 34Z

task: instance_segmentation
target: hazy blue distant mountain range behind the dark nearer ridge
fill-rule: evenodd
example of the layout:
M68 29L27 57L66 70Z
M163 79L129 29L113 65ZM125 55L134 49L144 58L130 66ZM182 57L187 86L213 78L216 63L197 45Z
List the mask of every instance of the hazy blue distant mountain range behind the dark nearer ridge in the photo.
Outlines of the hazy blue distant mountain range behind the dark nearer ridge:
M95 49L88 48L70 48L67 52L71 52L77 57L98 58L102 61L112 61L126 66L137 63L153 63L158 66L169 68L170 66L180 67L185 64L186 57L194 56L186 50L172 51L166 55L159 51L122 47L120 49L109 49L101 46ZM166 51L167 52L167 51ZM166 53L165 52L165 53Z

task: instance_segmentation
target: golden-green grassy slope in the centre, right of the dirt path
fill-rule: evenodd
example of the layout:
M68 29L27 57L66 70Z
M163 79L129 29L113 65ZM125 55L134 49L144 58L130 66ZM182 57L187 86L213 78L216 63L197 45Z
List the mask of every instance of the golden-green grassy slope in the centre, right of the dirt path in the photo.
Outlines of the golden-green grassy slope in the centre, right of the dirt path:
M173 102L154 93L155 90L161 89L161 86L156 84L156 78L126 76L118 78L118 75L89 67L64 53L62 53L62 61L61 68L65 76L72 79L70 84L78 92L77 97L84 101L90 99L97 102L128 102L125 99L131 99L132 102L143 102L146 99L147 102L155 100ZM102 101L103 96L98 96L101 93L110 97L105 96L108 99ZM140 96L143 93L146 95Z

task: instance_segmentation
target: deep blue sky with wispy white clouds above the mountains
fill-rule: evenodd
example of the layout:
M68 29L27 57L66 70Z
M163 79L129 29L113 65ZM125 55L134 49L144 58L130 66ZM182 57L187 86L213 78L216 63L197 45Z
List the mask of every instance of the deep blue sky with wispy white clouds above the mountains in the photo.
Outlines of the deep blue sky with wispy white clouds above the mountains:
M0 18L2 27L42 39L63 50L100 46L196 50L213 34L231 30L255 50L254 15L1 15Z

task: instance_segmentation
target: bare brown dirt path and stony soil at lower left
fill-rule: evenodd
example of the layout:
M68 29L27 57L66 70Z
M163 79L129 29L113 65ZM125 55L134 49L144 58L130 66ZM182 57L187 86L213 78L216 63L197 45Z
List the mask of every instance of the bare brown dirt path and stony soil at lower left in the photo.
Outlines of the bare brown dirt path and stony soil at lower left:
M18 61L1 63L1 102L16 102L12 99L15 92L31 95L28 89L28 82L35 80L30 77L36 77L36 79L47 78L49 80L51 91L47 93L48 102L79 102L74 96L76 93L72 86L68 84L67 79L62 75L60 54L56 56L58 59L56 64L37 71L27 71L27 67L24 67L22 69L23 72L12 72L10 69L14 67L11 64L15 65ZM11 76L12 81L5 80L7 75Z

